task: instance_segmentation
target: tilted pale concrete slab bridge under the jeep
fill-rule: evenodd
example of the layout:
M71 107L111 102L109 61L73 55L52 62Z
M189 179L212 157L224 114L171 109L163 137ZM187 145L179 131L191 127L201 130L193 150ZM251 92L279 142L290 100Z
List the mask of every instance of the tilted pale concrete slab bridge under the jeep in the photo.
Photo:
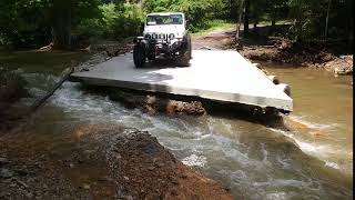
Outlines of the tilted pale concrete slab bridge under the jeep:
M262 108L293 110L293 100L236 51L194 50L189 68L149 63L134 68L132 53L72 74L88 84L193 96Z

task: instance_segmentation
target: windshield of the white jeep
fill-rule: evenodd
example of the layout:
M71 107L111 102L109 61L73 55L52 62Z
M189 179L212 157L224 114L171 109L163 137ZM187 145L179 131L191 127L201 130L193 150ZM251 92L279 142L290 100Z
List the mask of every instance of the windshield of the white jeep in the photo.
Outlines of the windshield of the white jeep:
M183 19L182 14L169 14L169 16L148 16L146 24L148 26L163 26L163 24L182 24Z

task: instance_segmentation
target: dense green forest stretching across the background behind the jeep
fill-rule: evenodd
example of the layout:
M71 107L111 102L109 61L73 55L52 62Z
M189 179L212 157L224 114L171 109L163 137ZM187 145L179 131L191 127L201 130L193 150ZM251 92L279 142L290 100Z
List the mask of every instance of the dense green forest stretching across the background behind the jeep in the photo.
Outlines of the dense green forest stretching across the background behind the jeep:
M291 39L353 39L353 0L1 0L0 46L53 42L65 49L82 41L121 40L140 34L144 14L153 11L185 12L191 32L239 20L273 30L287 21L284 37Z

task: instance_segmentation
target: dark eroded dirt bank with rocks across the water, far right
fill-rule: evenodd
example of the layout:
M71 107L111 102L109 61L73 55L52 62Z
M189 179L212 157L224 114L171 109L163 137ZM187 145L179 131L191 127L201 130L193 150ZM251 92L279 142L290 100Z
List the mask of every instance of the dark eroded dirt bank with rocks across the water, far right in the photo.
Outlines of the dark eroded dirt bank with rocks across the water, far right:
M294 42L280 37L268 37L263 42L242 39L232 43L254 61L324 69L337 76L353 74L353 54L338 54L325 43Z

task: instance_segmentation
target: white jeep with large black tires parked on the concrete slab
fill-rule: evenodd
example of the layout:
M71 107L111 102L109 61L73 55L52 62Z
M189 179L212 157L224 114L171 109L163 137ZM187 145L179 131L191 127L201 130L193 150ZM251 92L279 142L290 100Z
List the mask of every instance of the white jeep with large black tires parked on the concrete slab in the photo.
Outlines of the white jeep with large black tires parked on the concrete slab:
M133 42L133 61L136 68L143 68L146 59L152 61L158 57L173 59L181 67L190 66L191 37L187 34L184 13L148 14L143 37L136 37Z

